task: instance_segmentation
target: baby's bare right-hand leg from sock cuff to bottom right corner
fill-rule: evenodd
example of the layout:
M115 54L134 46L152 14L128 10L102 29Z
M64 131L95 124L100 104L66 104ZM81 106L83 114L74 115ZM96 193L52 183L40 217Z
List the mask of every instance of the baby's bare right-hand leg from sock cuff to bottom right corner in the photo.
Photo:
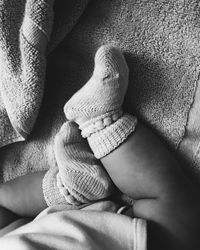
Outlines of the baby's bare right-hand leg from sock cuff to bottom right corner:
M154 222L150 224L151 249L199 249L198 189L150 129L138 124L101 161L116 186L136 199L134 215Z

